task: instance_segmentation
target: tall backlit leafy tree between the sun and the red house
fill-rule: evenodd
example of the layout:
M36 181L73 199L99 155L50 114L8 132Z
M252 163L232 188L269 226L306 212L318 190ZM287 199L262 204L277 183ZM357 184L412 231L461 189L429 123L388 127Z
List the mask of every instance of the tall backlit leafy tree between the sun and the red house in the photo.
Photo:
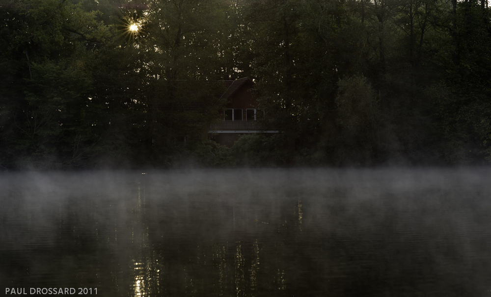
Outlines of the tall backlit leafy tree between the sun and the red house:
M143 102L151 113L155 147L174 148L201 139L218 117L226 1L150 1L134 44ZM226 29L225 29L226 32ZM217 70L218 69L218 70Z

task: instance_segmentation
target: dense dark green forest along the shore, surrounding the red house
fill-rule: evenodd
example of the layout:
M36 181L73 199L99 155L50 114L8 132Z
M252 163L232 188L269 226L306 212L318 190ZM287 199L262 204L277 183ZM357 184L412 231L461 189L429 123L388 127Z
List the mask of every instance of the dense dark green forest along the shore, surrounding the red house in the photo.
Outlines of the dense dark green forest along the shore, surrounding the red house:
M0 0L0 169L488 164L490 12L484 0ZM203 127L223 112L219 81L245 76L260 124L280 133L227 148Z

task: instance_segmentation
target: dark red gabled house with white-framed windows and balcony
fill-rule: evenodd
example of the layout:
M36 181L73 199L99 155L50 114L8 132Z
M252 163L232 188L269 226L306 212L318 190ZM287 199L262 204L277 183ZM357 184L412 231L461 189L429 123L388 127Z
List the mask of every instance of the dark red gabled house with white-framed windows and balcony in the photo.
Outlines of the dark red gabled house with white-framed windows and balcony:
M227 99L226 109L221 121L210 125L209 138L227 147L232 147L242 134L277 133L274 130L262 130L257 124L261 111L257 109L256 99L250 92L254 82L250 77L237 80L225 80L225 93L222 99Z

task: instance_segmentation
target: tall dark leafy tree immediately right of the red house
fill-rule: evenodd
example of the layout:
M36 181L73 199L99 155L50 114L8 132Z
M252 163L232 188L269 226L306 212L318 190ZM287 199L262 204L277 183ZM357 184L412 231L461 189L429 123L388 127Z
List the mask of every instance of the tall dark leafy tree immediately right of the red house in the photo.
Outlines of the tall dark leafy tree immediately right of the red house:
M342 52L351 51L338 42L341 5L264 0L247 7L246 24L256 32L252 67L263 124L283 132L288 162L332 133L338 72L347 66Z

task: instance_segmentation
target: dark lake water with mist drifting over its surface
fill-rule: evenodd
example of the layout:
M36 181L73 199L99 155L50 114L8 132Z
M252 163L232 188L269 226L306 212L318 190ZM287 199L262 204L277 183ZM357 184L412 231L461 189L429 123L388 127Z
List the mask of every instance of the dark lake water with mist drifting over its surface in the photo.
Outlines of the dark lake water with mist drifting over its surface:
M491 296L490 181L487 169L4 173L1 295Z

